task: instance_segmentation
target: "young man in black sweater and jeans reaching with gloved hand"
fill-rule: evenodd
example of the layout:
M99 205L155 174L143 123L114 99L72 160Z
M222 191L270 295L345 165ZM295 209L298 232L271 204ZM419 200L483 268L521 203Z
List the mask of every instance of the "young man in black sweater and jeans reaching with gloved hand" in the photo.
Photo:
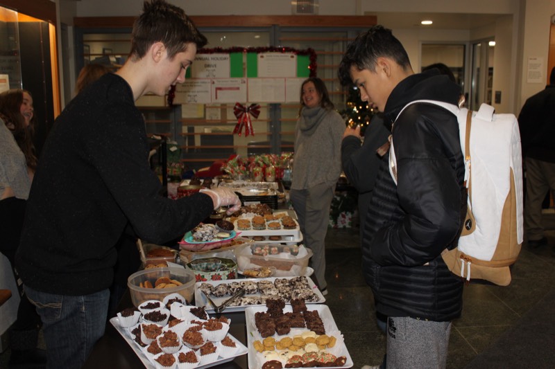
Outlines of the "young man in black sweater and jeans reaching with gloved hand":
M28 199L17 269L44 328L48 366L80 368L104 334L114 246L130 226L150 242L174 240L214 208L240 201L216 189L159 195L135 100L185 80L207 43L185 12L145 1L127 62L81 91L57 118Z

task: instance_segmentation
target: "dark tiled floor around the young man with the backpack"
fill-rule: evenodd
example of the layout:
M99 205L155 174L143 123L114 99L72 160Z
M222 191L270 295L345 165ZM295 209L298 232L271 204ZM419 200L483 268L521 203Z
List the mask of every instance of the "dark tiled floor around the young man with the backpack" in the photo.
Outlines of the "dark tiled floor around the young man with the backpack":
M463 314L451 331L448 369L464 368L554 288L555 215L545 220L550 245L529 249L524 244L509 287L466 286ZM386 339L376 325L372 292L362 276L358 228L330 229L326 248L326 304L345 336L354 368L378 365ZM8 359L9 350L0 354L1 369L7 368Z

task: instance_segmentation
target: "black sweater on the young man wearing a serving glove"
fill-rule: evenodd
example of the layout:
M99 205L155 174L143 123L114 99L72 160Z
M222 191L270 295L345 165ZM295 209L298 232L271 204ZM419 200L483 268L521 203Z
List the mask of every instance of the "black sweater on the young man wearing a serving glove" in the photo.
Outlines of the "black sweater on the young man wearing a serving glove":
M104 75L62 111L49 134L29 195L16 264L26 285L51 294L110 287L117 244L129 224L162 243L213 210L196 194L172 200L148 164L144 120L118 75Z

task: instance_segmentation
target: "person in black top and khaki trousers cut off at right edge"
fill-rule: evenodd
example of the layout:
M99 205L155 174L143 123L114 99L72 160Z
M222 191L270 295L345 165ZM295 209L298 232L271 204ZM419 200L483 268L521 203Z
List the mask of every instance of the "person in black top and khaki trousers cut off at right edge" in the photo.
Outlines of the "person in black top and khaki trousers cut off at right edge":
M526 170L524 234L529 246L548 244L542 225L542 203L555 194L555 67L549 84L531 96L518 115L522 158Z

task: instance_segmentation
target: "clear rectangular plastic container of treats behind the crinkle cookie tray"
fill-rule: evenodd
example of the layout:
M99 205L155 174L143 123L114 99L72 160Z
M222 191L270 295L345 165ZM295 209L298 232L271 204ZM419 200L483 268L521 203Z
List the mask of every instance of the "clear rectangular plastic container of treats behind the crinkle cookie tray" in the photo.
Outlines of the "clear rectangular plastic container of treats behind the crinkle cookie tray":
M278 246L254 242L235 249L239 271L257 267L274 267L274 277L305 276L311 256L311 249L302 245Z

